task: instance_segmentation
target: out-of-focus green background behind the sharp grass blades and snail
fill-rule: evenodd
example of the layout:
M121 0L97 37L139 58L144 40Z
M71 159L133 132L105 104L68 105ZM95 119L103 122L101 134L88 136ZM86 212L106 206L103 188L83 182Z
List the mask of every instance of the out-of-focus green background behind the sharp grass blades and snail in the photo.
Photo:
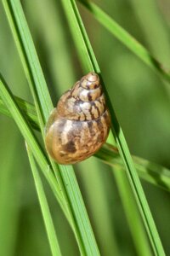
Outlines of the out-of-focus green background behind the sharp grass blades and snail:
M83 75L77 51L60 1L21 2L55 105ZM170 70L168 0L95 3ZM78 6L131 153L170 168L170 84ZM2 3L0 20L1 73L14 95L32 102ZM50 255L24 140L12 119L1 115L0 124L0 255ZM101 254L136 255L110 167L92 157L76 169ZM79 255L71 228L44 184L63 255ZM170 255L169 194L149 183L143 185L161 241Z

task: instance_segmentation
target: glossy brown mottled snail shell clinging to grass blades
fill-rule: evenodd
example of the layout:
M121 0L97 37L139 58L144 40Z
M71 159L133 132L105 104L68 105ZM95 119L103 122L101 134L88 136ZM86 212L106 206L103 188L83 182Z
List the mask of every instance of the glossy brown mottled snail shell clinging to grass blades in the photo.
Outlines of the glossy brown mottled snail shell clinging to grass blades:
M45 129L48 154L59 164L86 160L105 143L111 116L96 73L88 73L60 97Z

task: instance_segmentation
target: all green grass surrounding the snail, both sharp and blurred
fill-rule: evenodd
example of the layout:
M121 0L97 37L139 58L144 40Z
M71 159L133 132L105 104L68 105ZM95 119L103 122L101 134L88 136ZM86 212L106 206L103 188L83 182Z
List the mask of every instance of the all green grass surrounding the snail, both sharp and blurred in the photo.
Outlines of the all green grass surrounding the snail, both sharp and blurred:
M0 3L4 18L0 26L6 35L0 41L3 60L0 64L0 73L3 74L0 78L0 155L3 159L0 174L0 207L3 209L0 215L1 254L49 255L51 249L52 255L165 255L161 241L168 254L166 228L169 206L162 204L161 207L161 202L168 201L169 196L164 190L170 189L170 171L163 167L170 167L167 154L167 55L170 49L165 20L161 17L161 9L152 0L147 3L139 1L147 26L133 0L126 4L123 1L105 1L99 3L103 5L102 9L88 1L79 2L90 11L91 18L81 5L78 5L79 13L74 0L63 0L62 4L54 0L42 1L41 5L22 1L23 6L18 0ZM147 4L150 11L144 14ZM166 17L163 3L161 8ZM161 37L161 44L154 44L151 35ZM134 38L142 41L148 49ZM8 58L5 49L12 58ZM135 55L161 77L162 84L159 76L144 67ZM92 157L76 166L58 166L48 159L43 146L44 125L53 108L49 92L56 103L64 87L67 90L82 76L80 67L84 73L94 70L105 80L103 86L111 109L114 139L111 133L104 147L95 154L96 160ZM31 99L33 104L29 103ZM20 135L11 119L5 119L4 115L14 119L28 145L27 153L42 216L36 193L32 192L34 183L24 143L20 142ZM130 155L120 123L129 148L140 157ZM39 131L42 137L39 137ZM147 182L144 183L144 191L137 172ZM150 184L154 184L155 189ZM12 195L15 195L15 200L9 205ZM33 209L37 213L30 218L29 212ZM11 212L11 215L6 212ZM163 216L165 218L160 218ZM42 218L46 230L43 230ZM32 236L26 232L27 229L33 232Z

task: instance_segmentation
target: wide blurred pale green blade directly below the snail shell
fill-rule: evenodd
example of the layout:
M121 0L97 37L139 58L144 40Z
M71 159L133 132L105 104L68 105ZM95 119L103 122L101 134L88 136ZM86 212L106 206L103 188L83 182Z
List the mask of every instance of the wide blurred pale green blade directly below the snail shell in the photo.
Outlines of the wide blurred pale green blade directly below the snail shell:
M82 188L86 201L88 201L88 208L89 210L92 209L90 211L91 218L93 219L101 255L122 255L122 248L116 239L116 224L114 222L116 219L116 212L114 211L116 205L112 192L116 192L116 189L110 187L109 183L105 183L107 166L92 157L79 163L77 168L81 170L81 172L77 172L77 175L83 181ZM108 174L111 179L111 173L108 172ZM113 201L113 205L111 201ZM103 218L105 224L104 221L101 221L101 218Z

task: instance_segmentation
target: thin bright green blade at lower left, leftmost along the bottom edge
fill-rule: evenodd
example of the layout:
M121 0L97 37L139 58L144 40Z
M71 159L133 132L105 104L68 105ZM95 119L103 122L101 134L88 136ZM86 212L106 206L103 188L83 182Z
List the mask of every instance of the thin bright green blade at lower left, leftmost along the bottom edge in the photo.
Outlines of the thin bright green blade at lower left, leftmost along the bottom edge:
M47 198L46 198L43 186L42 186L41 177L39 176L39 173L37 171L37 166L36 166L35 160L33 158L33 154L31 153L31 149L28 147L27 144L26 144L26 149L27 149L28 158L30 161L32 175L34 177L34 182L35 182L36 189L37 189L37 196L38 196L38 200L39 200L40 207L42 210L42 217L43 217L43 221L44 221L44 224L45 224L45 227L47 230L48 241L49 241L52 255L54 255L54 256L62 255L60 252L60 249L59 249L59 241L55 234L53 219L52 219L51 213L49 211L48 201L47 201Z

